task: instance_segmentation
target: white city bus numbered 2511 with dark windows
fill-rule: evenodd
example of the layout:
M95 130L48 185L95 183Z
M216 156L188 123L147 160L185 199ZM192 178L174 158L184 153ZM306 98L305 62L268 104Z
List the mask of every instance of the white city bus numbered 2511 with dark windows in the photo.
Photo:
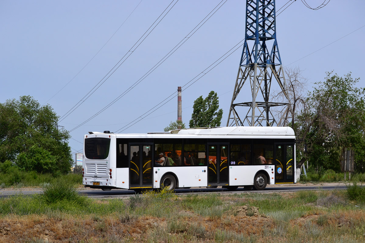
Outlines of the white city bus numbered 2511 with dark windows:
M160 157L165 162L159 163ZM262 190L268 183L296 183L295 168L295 134L289 127L89 132L84 136L82 184L103 190L161 186Z

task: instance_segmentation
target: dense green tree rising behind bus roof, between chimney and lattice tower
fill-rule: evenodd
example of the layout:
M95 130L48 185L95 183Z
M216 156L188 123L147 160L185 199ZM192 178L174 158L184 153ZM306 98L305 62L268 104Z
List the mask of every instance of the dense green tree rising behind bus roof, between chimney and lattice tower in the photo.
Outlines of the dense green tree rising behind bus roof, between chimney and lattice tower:
M205 99L200 96L194 101L189 126L190 128L220 126L222 115L223 110L219 109L217 93L210 91Z

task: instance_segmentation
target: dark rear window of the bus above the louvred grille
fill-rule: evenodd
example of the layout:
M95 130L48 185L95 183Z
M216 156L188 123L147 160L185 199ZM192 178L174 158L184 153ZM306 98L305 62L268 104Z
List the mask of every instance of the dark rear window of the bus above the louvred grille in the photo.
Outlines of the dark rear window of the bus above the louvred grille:
M110 138L86 138L85 156L92 160L104 160L109 155Z

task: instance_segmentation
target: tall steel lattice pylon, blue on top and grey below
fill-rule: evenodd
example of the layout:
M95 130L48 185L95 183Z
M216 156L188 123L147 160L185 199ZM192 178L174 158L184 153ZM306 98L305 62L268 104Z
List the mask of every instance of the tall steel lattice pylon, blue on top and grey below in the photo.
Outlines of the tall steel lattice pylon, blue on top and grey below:
M247 0L245 43L227 126L243 126L246 122L249 126L278 124L270 107L288 105L288 103L269 102L273 79L287 97L283 66L276 40L275 0ZM239 97L239 91L248 81L251 85L252 101L235 103ZM242 107L249 107L243 119L238 114L239 109L244 110Z

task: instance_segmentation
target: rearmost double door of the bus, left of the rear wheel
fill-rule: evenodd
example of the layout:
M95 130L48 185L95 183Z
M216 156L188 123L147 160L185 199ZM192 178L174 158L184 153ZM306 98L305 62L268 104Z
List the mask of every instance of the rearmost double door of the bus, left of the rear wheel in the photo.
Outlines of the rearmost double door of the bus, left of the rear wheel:
M152 188L152 144L130 144L130 188Z

